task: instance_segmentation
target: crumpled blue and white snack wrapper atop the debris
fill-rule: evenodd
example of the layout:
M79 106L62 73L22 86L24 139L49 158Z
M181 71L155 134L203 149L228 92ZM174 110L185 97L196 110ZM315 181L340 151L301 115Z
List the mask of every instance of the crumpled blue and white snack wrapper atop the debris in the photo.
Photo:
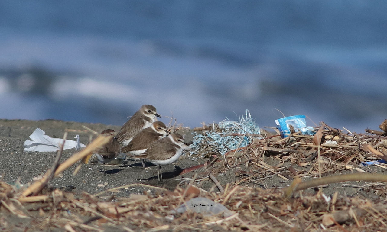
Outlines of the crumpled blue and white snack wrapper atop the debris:
M314 128L312 126L307 126L305 115L295 115L279 118L275 120L275 122L282 138L286 138L290 135L289 125L292 125L296 132L301 130L303 135L314 135L316 133L313 131Z

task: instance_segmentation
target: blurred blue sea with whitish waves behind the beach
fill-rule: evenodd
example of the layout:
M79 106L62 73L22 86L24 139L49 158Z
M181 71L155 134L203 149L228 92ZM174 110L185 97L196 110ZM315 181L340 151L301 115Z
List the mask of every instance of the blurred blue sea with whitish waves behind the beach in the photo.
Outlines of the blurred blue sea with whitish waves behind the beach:
M152 104L190 127L249 109L261 128L281 111L378 129L386 12L365 0L1 1L0 118L123 125Z

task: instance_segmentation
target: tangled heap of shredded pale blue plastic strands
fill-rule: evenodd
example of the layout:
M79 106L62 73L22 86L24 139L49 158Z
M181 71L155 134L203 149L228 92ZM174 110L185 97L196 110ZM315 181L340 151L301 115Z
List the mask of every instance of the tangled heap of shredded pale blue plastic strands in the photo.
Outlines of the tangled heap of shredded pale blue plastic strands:
M194 135L193 143L191 145L192 151L190 155L197 154L197 151L205 145L207 147L216 147L216 151L224 155L230 150L235 150L240 147L246 147L252 142L252 137L250 136L225 136L231 133L240 133L240 134L259 134L260 129L257 123L251 118L250 111L246 109L245 115L239 118L239 121L226 121L227 118L218 123L218 127L221 129L221 132L216 132L214 130L215 125L212 126L212 131L206 131L203 134L192 132ZM211 138L211 139L207 139ZM259 137L257 137L259 138ZM208 146L209 145L209 146ZM215 151L214 151L215 152Z

